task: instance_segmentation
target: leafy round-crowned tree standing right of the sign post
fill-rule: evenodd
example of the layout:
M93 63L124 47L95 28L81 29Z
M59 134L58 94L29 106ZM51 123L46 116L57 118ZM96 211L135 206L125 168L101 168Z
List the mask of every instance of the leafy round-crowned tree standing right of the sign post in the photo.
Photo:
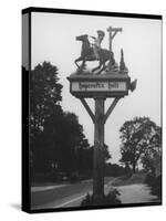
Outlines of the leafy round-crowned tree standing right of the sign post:
M135 117L127 120L120 129L122 147L121 161L129 164L135 172L138 160L143 159L147 149L154 145L157 125L148 117Z

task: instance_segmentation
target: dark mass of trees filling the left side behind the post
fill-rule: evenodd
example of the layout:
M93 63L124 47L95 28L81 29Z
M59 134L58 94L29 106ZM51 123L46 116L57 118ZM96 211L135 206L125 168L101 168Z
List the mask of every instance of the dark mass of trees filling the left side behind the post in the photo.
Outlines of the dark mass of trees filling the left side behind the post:
M23 70L25 73L25 70ZM63 86L59 71L49 62L38 64L30 75L30 166L32 179L42 173L92 175L93 147L75 114L61 107ZM107 146L105 160L110 158Z

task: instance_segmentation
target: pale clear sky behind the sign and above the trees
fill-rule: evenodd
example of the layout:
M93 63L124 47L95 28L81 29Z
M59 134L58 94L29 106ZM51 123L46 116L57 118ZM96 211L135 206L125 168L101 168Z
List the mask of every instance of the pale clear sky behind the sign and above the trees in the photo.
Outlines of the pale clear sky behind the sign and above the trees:
M102 48L108 49L108 27L123 29L123 32L117 33L113 40L115 61L120 63L123 49L128 74L132 80L137 80L136 90L120 99L105 125L105 144L112 155L111 162L118 162L118 130L125 120L131 120L135 116L146 116L160 126L162 21L33 12L31 57L32 69L43 61L58 66L60 83L63 85L61 105L64 110L79 116L84 134L93 145L94 125L80 99L70 94L66 77L76 71L74 60L81 54L82 44L75 38L82 34L96 36L96 31L103 30L105 38ZM86 63L87 69L96 64ZM112 98L106 99L105 112L112 102ZM94 112L94 101L87 99L87 103Z

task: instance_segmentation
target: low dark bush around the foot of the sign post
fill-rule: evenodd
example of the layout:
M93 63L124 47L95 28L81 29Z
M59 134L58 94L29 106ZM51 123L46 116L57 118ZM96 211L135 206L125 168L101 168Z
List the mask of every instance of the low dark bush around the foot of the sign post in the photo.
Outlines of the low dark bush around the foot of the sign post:
M115 206L121 204L118 199L120 192L114 189L104 196L103 199L96 200L90 193L86 194L85 199L82 201L81 207L91 207L91 206Z

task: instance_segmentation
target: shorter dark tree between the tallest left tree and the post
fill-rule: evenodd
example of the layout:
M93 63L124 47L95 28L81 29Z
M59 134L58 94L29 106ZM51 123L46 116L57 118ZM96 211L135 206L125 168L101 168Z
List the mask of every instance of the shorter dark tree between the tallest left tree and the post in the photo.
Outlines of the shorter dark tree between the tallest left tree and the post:
M44 141L35 148L37 156L43 146L43 160L50 170L52 165L68 173L79 170L80 151L89 149L90 145L75 114L56 109L45 120L42 137Z

